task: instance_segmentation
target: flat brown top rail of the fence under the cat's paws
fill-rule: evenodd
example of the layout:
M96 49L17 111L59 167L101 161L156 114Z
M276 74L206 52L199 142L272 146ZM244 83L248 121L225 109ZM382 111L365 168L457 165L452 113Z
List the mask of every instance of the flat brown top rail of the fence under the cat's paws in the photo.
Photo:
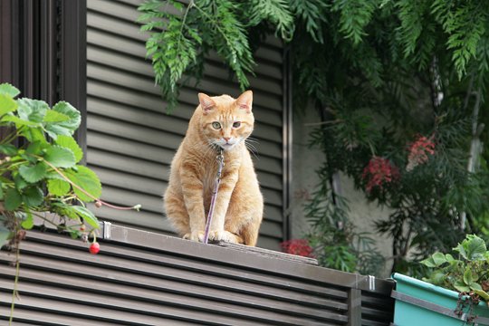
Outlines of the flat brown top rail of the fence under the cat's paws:
M49 235L48 233L29 232L28 237L41 241L55 241L65 245L77 245L68 236ZM153 252L161 252L185 256L196 261L219 262L239 266L246 270L261 273L273 273L296 279L325 283L346 289L358 289L389 295L394 281L379 279L370 275L345 273L317 265L312 258L299 257L292 254L278 253L245 245L217 243L204 245L183 240L175 236L162 235L128 226L101 223L98 238L102 242L137 246ZM72 243L71 243L72 242Z

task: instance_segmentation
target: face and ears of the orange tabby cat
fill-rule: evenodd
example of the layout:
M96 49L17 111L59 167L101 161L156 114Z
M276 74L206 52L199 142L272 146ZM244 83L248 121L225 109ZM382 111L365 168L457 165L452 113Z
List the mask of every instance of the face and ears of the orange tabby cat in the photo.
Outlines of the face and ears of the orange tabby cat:
M245 91L238 99L222 95L209 97L199 93L203 112L201 130L209 144L232 150L250 136L254 127L252 91Z

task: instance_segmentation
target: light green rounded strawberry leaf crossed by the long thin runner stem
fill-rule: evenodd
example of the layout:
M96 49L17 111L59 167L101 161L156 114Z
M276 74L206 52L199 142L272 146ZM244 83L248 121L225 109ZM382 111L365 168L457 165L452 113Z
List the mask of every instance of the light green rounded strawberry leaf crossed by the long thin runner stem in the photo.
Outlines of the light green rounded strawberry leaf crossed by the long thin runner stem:
M76 170L71 169L66 171L66 177L70 178L75 185L82 187L92 197L101 197L101 180L90 168L77 165ZM73 187L73 191L82 201L91 202L94 200L85 195L77 187Z

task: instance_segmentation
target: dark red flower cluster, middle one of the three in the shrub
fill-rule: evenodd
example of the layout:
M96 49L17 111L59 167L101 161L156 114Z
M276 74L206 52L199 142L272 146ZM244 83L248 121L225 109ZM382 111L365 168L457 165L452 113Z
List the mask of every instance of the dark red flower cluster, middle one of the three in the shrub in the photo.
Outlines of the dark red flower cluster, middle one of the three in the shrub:
M363 169L362 176L367 180L365 187L370 192L373 187L382 187L399 178L399 170L392 165L387 158L373 157L369 160L369 165Z

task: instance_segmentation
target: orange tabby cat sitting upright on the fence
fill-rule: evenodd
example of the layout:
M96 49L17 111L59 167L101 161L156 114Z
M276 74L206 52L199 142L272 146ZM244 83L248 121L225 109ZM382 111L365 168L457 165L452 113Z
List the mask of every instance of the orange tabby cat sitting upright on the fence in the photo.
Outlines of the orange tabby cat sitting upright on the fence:
M216 197L209 240L256 245L264 198L245 139L254 127L253 92L237 100L199 93L200 105L171 163L165 209L179 235L203 241L215 185L219 149L225 166Z

